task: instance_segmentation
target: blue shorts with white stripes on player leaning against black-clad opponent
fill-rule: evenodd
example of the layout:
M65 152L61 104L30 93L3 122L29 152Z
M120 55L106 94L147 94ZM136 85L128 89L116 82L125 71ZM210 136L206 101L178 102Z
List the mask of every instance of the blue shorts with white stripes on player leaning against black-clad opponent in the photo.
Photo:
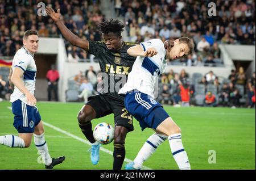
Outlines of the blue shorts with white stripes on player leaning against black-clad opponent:
M156 129L159 124L170 117L160 103L139 91L125 95L125 108L139 121L142 131L145 128Z

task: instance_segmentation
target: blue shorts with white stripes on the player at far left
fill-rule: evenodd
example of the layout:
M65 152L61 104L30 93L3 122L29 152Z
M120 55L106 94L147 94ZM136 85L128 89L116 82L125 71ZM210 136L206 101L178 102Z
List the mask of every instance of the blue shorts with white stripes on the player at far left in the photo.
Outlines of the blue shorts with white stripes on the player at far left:
M34 133L35 127L41 120L38 108L28 106L21 100L16 100L11 104L14 114L14 127L18 133Z

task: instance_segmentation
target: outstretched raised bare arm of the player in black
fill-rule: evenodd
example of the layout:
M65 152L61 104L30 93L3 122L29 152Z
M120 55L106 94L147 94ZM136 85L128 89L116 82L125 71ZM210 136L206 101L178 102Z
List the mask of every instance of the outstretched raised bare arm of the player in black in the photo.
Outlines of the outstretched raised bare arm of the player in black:
M52 18L52 20L56 23L57 27L60 29L62 35L67 39L72 45L76 47L80 47L85 49L86 51L89 50L89 42L88 40L81 39L80 37L76 36L72 33L68 28L65 26L62 20L60 20L61 14L60 9L55 12L51 7L46 7L47 14Z

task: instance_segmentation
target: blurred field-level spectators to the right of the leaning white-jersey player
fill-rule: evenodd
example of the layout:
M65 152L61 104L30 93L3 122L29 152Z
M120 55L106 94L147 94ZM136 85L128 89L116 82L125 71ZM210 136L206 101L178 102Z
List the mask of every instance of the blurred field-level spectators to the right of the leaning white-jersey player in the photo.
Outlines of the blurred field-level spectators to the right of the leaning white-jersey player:
M184 69L180 74L171 69L159 78L158 87L159 102L175 107L255 107L255 72L247 78L242 67L232 70L228 78L219 78L213 71L189 76Z

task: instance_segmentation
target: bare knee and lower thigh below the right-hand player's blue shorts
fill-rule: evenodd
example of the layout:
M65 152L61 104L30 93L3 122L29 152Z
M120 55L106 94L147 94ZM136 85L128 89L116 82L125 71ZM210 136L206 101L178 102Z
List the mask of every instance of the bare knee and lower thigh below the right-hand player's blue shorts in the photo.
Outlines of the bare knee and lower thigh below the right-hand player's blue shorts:
M166 136L170 136L172 134L181 133L180 128L177 124L172 120L171 117L167 117L162 123L156 127L156 131L158 133L162 133Z

